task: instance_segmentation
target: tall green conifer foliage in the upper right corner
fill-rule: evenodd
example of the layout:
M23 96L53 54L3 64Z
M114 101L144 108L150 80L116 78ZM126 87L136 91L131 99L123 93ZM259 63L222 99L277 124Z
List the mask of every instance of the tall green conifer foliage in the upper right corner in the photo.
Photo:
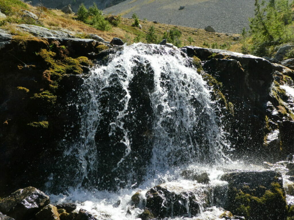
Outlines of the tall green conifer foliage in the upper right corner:
M250 19L250 30L242 33L242 52L257 56L271 56L276 46L293 43L294 1L255 0L255 17Z

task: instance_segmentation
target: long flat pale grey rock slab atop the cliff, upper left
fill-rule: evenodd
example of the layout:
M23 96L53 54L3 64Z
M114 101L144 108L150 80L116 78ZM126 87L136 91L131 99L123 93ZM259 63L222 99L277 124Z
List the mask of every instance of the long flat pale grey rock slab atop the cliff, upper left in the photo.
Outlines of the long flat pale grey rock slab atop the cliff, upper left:
M31 25L31 24L19 24L16 26L16 28L19 29L20 31L29 32L36 37L43 37L43 38L46 38L46 37L73 38L74 37L63 31L49 30L48 28L43 28L40 26Z

